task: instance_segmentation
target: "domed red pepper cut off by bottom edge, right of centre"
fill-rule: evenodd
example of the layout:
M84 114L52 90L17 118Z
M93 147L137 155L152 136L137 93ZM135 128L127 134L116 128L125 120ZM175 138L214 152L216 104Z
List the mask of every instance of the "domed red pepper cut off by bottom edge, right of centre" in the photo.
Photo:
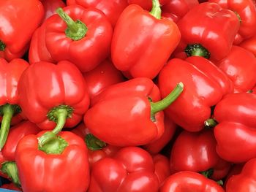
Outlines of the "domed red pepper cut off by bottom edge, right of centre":
M197 172L178 172L165 180L159 192L225 192L215 181Z

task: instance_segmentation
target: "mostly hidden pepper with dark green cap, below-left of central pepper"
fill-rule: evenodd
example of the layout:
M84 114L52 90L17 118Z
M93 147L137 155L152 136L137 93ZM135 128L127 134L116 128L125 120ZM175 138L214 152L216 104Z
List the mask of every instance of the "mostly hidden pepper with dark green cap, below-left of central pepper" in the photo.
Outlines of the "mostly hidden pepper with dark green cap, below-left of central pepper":
M120 147L108 145L94 137L83 123L80 123L72 132L86 142L90 167L102 158L112 157L120 149Z

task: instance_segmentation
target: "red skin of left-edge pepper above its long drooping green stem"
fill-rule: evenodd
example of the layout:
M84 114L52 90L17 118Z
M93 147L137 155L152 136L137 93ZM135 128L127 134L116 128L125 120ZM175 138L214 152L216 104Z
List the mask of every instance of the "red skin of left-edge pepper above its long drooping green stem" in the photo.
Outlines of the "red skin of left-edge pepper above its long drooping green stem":
M29 67L29 63L23 59L15 58L8 63L4 58L0 58L0 106L4 104L18 104L18 81L21 74ZM12 125L19 123L25 118L22 114L12 117ZM0 117L1 121L2 117Z

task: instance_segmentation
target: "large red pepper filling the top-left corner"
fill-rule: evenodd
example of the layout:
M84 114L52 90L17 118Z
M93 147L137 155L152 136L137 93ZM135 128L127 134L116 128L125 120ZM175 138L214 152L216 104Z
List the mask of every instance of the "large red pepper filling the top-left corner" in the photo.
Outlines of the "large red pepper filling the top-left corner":
M44 14L42 3L38 0L0 1L0 58L7 61L21 58Z

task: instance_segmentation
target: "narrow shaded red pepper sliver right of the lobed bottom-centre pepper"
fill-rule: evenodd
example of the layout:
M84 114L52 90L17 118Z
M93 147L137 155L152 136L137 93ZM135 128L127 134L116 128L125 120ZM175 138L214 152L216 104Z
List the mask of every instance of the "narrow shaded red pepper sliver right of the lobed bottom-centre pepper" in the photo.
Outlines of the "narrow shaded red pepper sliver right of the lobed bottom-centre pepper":
M161 154L153 156L154 174L157 175L160 185L170 176L169 159Z

